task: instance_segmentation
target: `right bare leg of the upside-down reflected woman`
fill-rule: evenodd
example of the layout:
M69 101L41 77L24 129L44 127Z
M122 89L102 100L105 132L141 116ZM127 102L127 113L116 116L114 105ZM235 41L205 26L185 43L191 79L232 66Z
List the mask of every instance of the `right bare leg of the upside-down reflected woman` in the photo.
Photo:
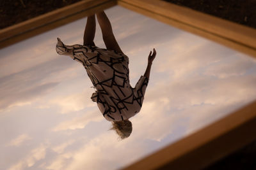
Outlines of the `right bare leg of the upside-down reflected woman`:
M111 23L109 22L109 19L104 11L101 11L96 14L97 19L100 25L100 29L102 31L102 36L104 43L106 45L106 48L108 50L115 50L118 53L123 53L120 46L118 45L115 36L113 34L113 30L111 27Z

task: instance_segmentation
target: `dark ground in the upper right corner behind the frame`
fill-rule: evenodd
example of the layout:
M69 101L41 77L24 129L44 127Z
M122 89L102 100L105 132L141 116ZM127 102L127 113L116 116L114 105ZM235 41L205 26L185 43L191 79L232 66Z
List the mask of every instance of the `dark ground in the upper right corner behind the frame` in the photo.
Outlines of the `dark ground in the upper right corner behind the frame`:
M256 28L256 0L164 0Z

